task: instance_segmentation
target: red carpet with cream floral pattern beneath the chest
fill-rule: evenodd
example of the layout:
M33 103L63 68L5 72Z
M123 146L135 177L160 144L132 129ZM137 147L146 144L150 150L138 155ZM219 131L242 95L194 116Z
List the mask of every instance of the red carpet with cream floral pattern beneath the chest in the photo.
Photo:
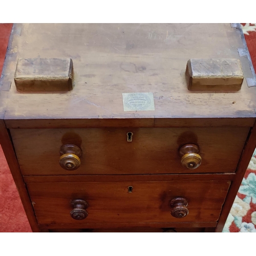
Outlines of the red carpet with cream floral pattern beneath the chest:
M256 23L242 24L256 69ZM0 74L12 24L0 24ZM0 147L0 232L31 232L24 208ZM223 232L256 232L256 151L234 201Z

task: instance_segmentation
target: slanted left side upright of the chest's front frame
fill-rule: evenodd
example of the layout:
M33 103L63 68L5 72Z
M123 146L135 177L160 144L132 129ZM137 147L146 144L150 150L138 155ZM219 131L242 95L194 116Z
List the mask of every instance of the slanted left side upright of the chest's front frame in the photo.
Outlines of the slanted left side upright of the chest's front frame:
M16 154L14 152L14 148L13 148L13 145L12 145L10 139L11 138L10 138L10 135L5 127L4 121L0 120L0 143L3 148L3 152L5 154L7 163L11 170L13 180L15 182L20 199L24 206L31 229L33 232L39 232L39 227L37 224L37 219L36 219L36 216L34 213L34 209L32 207L30 197L28 194L28 190L27 190L26 184L23 180L23 176L20 173ZM13 215L12 215L12 217L13 217Z

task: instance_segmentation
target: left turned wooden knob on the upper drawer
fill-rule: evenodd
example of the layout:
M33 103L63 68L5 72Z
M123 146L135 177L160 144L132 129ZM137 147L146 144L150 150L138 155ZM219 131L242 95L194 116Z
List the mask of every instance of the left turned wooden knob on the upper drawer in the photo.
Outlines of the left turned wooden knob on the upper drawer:
M80 164L81 150L73 144L63 145L60 148L59 164L65 170L76 170Z

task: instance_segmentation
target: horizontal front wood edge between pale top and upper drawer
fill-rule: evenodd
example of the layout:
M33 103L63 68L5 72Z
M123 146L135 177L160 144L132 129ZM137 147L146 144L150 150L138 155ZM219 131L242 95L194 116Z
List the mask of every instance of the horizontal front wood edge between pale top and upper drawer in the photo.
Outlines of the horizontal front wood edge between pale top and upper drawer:
M126 119L5 119L8 129L97 127L252 127L256 117L244 118L126 118Z

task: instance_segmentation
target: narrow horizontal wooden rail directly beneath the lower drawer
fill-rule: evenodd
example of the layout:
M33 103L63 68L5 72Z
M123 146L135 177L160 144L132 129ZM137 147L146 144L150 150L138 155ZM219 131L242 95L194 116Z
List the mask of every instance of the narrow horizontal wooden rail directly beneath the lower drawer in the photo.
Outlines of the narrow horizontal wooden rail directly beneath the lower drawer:
M79 222L79 221L78 221ZM77 223L77 224L39 224L39 228L54 229L54 228L121 228L121 227L159 227L159 228L175 228L175 227L216 227L217 222L159 222L159 223Z

